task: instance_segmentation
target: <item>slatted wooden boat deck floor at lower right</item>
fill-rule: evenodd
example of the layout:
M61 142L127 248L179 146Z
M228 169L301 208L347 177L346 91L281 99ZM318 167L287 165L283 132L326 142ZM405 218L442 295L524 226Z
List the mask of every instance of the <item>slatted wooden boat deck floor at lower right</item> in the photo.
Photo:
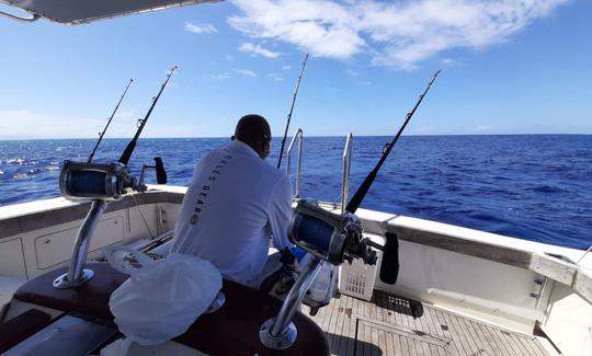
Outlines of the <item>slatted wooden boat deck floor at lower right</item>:
M341 295L311 319L333 355L549 355L536 336L378 290L371 301Z

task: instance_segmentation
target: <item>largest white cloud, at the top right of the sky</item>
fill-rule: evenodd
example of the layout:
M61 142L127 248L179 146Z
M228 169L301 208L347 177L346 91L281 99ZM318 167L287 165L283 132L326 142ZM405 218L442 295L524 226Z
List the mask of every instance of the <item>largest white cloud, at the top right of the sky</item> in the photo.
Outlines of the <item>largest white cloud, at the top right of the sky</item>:
M253 38L296 45L315 56L365 53L374 65L412 69L452 48L508 41L569 0L231 0L228 19Z

